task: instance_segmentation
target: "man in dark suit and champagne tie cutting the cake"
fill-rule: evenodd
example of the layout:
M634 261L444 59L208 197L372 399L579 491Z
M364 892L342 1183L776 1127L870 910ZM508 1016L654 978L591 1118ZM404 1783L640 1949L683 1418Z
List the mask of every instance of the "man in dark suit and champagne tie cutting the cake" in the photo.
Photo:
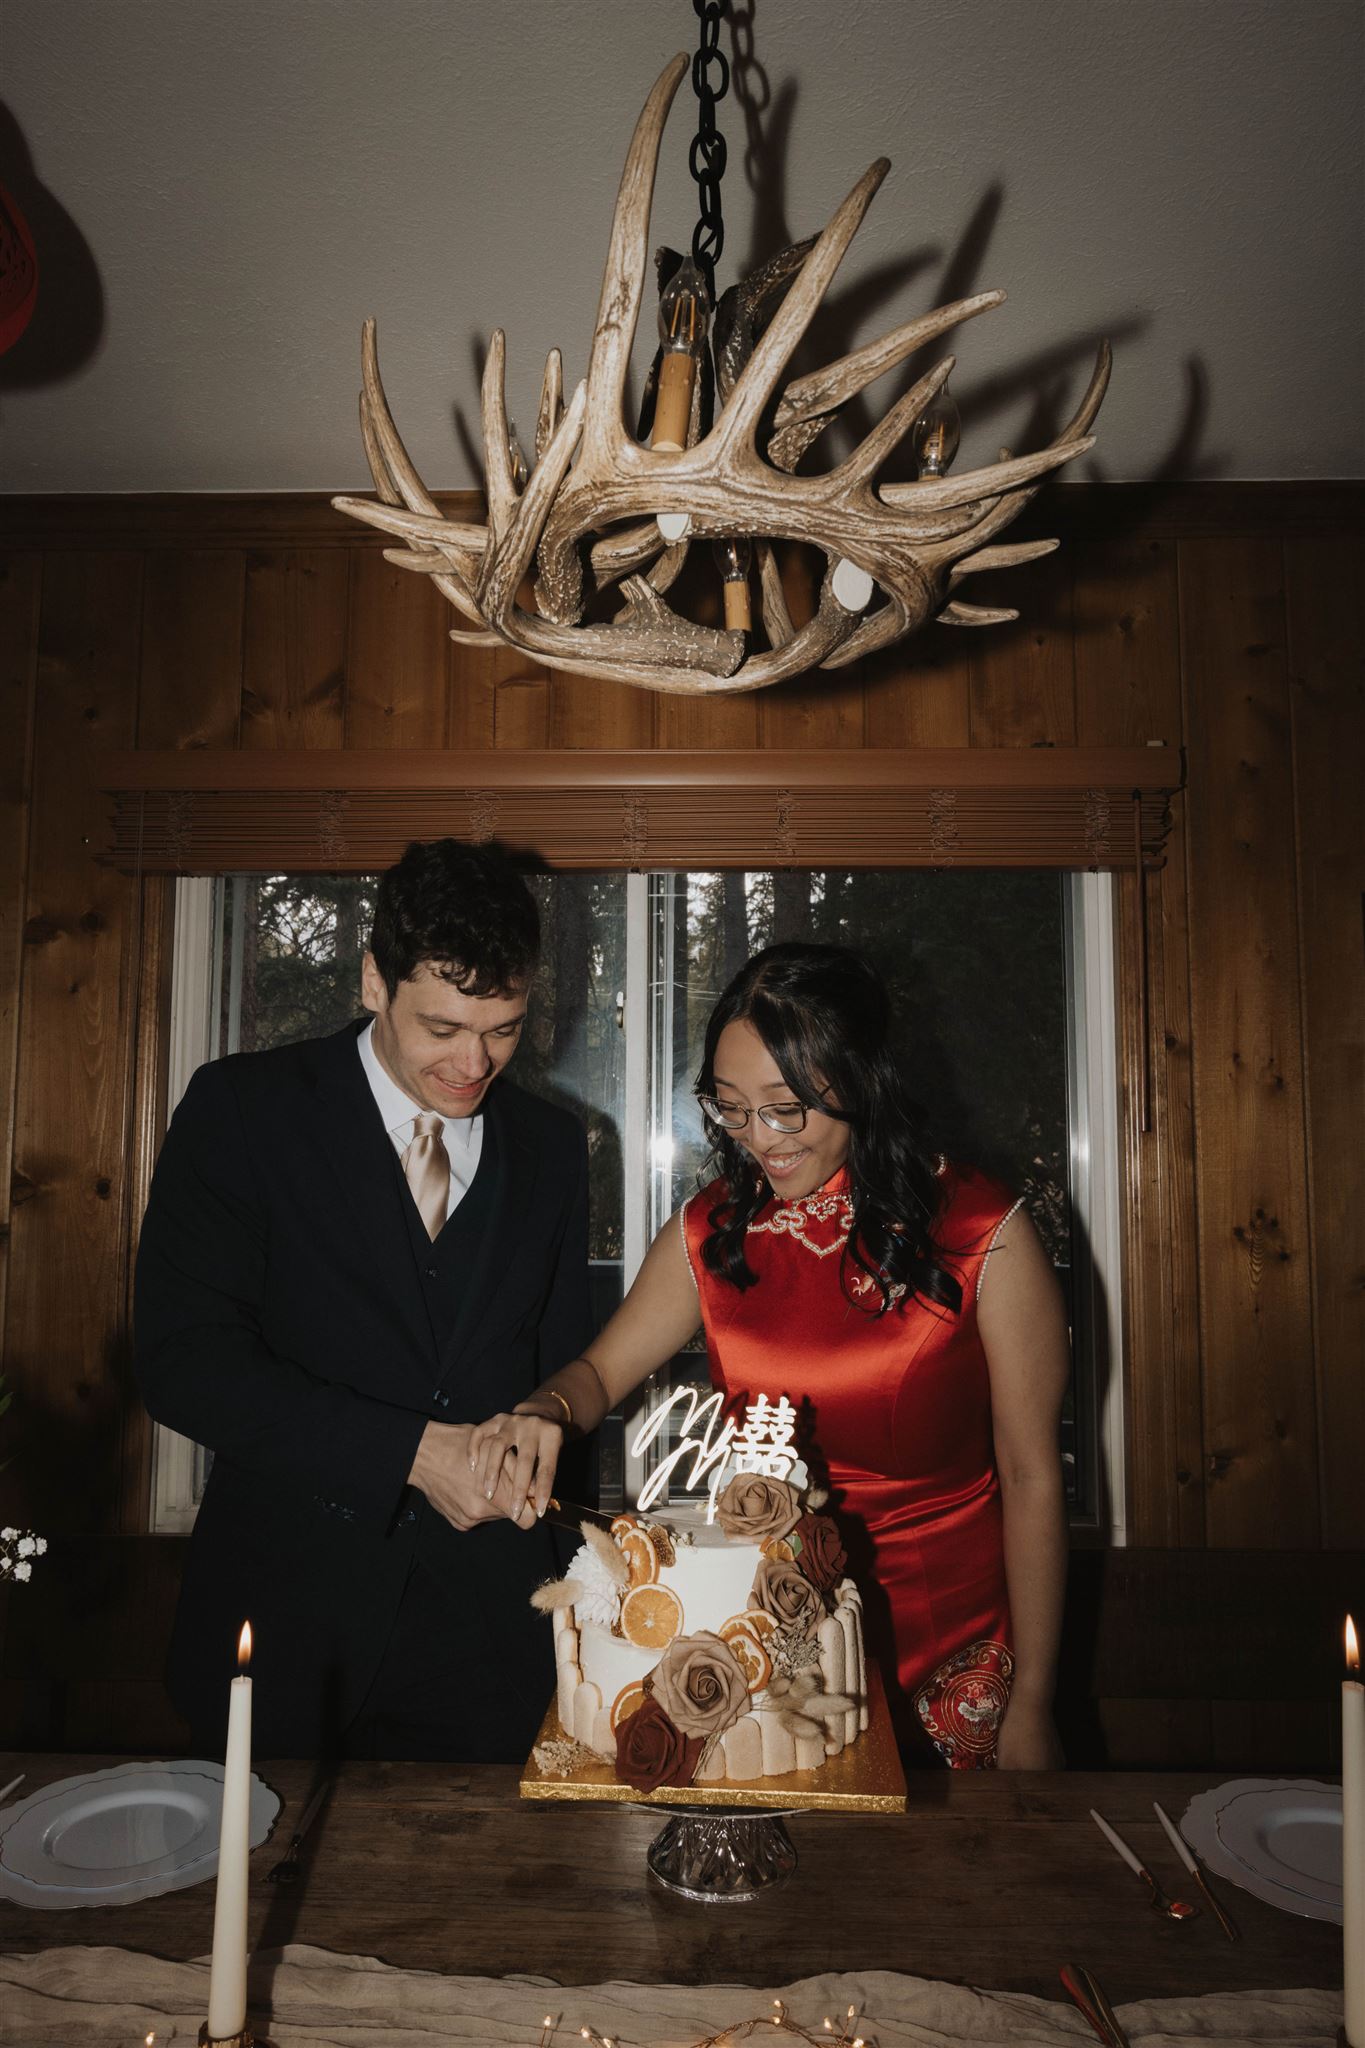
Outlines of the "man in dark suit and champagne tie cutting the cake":
M244 1620L258 1755L534 1739L555 1556L510 1481L477 1491L467 1436L591 1335L583 1133L501 1071L536 950L501 854L413 844L379 889L370 1020L201 1067L174 1114L137 1374L213 1450L168 1671L211 1755Z

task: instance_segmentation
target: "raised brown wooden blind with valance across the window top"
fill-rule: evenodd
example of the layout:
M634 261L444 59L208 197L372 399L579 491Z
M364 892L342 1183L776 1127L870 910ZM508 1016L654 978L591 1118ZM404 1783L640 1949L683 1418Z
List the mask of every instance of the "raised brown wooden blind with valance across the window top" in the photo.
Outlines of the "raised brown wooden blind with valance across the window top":
M317 752L260 766L241 754L111 764L104 858L143 874L366 872L450 834L557 868L1134 868L1138 852L1160 864L1179 786L1166 748L759 752L710 756L704 774L659 754L336 756L329 784Z

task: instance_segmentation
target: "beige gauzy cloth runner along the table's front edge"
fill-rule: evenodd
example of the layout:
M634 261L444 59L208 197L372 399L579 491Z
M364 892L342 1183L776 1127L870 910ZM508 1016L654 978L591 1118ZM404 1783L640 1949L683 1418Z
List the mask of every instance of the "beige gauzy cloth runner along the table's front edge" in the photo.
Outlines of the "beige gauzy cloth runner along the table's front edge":
M1087 1960L1087 1958L1081 1958ZM1089 1958L1093 1964L1093 1958ZM1076 2048L1095 2036L1070 2005L1023 1993L970 1991L886 1970L806 1976L755 1991L745 1985L573 1985L536 1976L440 1976L395 1970L368 1956L293 1944L252 1960L252 2019L272 2048L538 2048L546 2013L555 2048L577 2048L579 2028L622 2048L694 2048L780 1997L792 2019L821 2032L849 2005L878 2048ZM209 1964L166 1962L121 1948L49 1948L0 1956L0 2048L156 2048L194 2042L209 2007ZM1332 2048L1340 1995L1238 1991L1150 1999L1117 2007L1134 2048L1222 2042ZM774 2036L774 2044L782 2036ZM835 2032L837 2040L837 2032Z

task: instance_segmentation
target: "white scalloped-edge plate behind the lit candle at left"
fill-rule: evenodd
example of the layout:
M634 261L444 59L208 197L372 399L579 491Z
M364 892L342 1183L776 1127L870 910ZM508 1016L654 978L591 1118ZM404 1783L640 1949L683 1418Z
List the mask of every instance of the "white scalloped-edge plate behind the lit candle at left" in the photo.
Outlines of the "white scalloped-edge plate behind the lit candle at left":
M270 1786L252 1778L252 1847L278 1810ZM119 1763L63 1778L0 1815L0 1896L61 1911L201 1884L217 1870L221 1815L221 1763Z

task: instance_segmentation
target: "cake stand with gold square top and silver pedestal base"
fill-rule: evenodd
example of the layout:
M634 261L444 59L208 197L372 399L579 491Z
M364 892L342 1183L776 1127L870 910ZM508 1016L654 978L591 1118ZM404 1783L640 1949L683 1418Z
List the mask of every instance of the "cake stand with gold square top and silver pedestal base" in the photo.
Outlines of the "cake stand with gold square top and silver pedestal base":
M618 1782L606 1757L571 1743L551 1704L520 1790L522 1798L600 1800L665 1812L669 1819L651 1841L645 1868L677 1898L706 1907L747 1905L786 1884L796 1870L796 1849L782 1823L794 1812L905 1812L905 1772L874 1665L868 1665L866 1733L819 1772L743 1784L722 1778L641 1794Z

